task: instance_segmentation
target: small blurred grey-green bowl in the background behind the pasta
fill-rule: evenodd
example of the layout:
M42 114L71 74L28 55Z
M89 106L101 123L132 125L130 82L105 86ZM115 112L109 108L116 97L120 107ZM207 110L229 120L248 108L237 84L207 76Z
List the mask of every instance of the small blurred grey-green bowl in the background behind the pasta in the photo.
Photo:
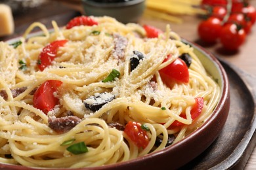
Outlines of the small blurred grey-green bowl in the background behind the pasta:
M104 1L82 0L87 16L111 16L123 23L137 22L145 8L145 0L106 3Z

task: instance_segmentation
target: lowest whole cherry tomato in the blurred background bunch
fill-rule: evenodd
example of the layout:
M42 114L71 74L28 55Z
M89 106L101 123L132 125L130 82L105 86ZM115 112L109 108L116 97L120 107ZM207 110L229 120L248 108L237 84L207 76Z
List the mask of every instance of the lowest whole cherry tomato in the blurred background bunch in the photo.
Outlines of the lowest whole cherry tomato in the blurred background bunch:
M221 29L221 43L227 50L237 50L245 41L244 29L239 29L236 24L226 24Z

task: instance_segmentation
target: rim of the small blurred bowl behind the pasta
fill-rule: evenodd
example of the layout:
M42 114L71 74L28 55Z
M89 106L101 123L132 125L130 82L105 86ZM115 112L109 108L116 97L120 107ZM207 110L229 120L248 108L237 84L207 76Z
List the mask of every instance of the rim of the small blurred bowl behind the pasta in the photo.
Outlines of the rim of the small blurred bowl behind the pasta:
M95 8L120 8L120 7L130 7L133 5L138 5L139 3L144 3L146 0L131 0L131 1L124 1L124 2L118 2L118 3L98 3L95 1L89 1L89 0L81 0L84 7L87 5L89 7L95 7Z

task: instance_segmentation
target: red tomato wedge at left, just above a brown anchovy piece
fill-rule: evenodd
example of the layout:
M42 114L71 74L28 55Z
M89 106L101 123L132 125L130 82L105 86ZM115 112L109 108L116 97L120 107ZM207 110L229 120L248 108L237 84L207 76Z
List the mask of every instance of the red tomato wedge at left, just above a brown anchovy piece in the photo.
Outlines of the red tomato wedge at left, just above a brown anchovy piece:
M54 96L54 92L57 92L61 85L62 82L59 80L47 80L41 84L33 95L33 107L47 114L59 103L58 98Z

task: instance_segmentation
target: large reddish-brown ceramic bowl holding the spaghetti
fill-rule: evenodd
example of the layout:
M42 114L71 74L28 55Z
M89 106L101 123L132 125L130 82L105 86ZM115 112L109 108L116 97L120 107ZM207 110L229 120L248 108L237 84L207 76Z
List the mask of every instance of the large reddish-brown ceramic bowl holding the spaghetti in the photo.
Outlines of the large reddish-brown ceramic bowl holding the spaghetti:
M14 42L15 40L9 41ZM213 141L218 137L219 133L223 129L224 123L228 116L230 107L230 93L229 83L226 72L224 71L221 63L213 54L207 52L201 46L183 40L185 43L194 47L194 52L202 61L203 66L207 72L217 79L219 86L221 86L221 99L213 110L213 114L207 119L207 121L200 126L196 131L190 133L186 138L182 139L178 143L175 143L163 150L142 156L135 160L129 160L121 163L115 163L112 165L104 165L100 167L88 167L81 168L79 170L91 170L91 169L178 169L182 165L185 165L189 161L199 156ZM0 163L0 168L3 169L18 169L18 170L35 170L38 168L24 167L20 165L9 165ZM42 169L42 168L40 168ZM58 170L64 170L59 168ZM47 168L47 170L50 170ZM53 170L53 169L51 169ZM55 169L56 170L56 169ZM67 170L67 169L66 169Z

